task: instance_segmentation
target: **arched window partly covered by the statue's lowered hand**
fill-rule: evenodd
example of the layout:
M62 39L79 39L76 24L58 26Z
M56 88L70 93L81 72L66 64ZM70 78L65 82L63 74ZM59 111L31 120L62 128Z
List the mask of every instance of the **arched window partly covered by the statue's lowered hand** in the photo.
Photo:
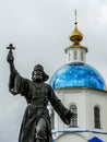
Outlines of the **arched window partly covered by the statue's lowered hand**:
M70 126L71 127L78 127L78 108L74 104L71 104L69 108L70 108L71 113L76 114L76 118L71 118Z

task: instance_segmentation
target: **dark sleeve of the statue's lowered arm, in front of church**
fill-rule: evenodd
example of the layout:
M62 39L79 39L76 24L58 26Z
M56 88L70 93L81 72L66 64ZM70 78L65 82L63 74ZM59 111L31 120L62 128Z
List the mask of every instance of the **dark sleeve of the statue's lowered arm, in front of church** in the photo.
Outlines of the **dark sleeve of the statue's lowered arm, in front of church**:
M57 114L60 116L62 121L67 125L70 125L71 117L70 114L71 111L64 107L64 105L61 103L61 100L56 96L54 90L50 87L49 88L49 100L54 109L57 111Z

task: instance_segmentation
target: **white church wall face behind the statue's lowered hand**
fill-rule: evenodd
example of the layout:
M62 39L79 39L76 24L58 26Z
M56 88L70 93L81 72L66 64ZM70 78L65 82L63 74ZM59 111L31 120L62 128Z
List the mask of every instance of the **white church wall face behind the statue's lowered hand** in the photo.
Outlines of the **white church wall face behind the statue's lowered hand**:
M72 128L72 130L85 130L86 128L86 116L85 116L85 93L82 90L64 90L61 92L58 91L58 97L62 100L62 103L69 108L69 105L71 103L75 104L78 107L78 127L76 128ZM63 96L63 97L62 97ZM60 128L63 129L69 129L69 127L67 125L63 125L63 122L60 122ZM59 129L60 129L59 128ZM71 129L71 128L70 128Z

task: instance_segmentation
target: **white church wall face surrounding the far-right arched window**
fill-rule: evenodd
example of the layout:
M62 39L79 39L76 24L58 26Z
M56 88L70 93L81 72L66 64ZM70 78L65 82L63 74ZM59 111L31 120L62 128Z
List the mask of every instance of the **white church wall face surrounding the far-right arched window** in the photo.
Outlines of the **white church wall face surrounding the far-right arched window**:
M87 129L88 130L96 130L94 128L94 107L98 106L100 108L100 129L97 131L107 131L107 93L98 92L98 91L91 91L87 90L86 95L86 118L87 118Z

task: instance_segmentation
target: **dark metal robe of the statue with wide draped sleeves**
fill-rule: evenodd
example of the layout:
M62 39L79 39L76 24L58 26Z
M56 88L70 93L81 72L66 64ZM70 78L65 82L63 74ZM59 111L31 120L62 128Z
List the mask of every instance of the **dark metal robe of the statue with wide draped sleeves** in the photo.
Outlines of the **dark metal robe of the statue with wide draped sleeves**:
M48 102L50 102L62 121L67 125L70 123L70 118L68 117L70 110L62 105L49 84L43 82L40 88L38 88L34 81L25 79L19 72L15 72L15 75L10 75L9 90L13 95L21 94L27 102L19 142L36 142L36 126L40 117L47 123L47 142L52 142L51 123L47 109Z

